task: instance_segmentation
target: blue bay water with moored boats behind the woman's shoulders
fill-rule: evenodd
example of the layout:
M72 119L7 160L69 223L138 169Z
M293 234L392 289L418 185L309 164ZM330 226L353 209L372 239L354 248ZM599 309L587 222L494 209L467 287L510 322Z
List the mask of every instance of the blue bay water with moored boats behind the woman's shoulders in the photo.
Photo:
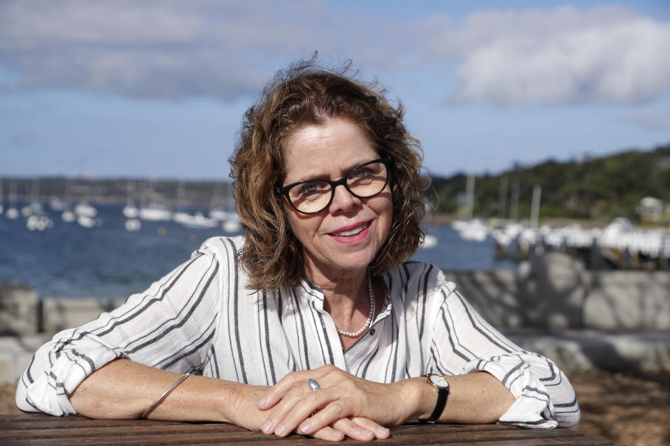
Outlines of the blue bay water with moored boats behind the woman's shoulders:
M207 238L224 235L222 229L147 221L142 221L140 231L128 232L121 206L96 208L103 222L96 229L66 223L60 213L47 210L53 227L29 231L24 217L8 220L1 214L0 282L29 284L41 297L122 298L147 289L188 260ZM417 252L415 259L445 270L516 268L513 261L494 259L491 238L468 242L449 226L426 229L438 243Z

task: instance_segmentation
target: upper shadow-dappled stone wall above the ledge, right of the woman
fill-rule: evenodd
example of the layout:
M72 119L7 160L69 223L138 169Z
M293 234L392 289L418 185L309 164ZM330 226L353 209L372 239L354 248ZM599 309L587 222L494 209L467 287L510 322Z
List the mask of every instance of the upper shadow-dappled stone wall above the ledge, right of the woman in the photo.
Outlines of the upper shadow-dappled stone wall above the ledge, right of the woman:
M586 271L549 253L518 270L446 275L500 330L670 330L670 272Z

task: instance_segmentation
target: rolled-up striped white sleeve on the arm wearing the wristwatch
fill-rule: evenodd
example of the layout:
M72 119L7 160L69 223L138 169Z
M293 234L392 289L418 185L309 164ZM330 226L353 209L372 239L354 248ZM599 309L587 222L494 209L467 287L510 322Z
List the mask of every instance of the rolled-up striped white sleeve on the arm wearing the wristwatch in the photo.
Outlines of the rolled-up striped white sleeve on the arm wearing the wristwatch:
M516 399L500 424L552 429L579 422L574 389L553 361L509 341L475 312L453 283L444 282L440 288L443 300L431 347L435 369L485 371L500 380Z

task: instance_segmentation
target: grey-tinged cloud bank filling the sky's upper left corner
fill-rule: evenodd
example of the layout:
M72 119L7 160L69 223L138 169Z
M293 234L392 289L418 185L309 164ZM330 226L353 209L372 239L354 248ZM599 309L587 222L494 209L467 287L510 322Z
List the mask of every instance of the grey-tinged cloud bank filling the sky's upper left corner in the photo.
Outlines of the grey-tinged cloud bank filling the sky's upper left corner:
M336 49L315 39L328 19L318 1L4 1L0 64L22 89L232 100L287 61Z

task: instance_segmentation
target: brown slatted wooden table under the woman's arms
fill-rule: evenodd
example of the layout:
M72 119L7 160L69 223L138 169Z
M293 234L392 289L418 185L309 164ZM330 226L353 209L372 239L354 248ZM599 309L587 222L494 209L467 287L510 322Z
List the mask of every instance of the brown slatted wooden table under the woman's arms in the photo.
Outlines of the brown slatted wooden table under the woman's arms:
M0 444L9 445L334 445L291 435L286 438L247 431L226 423L150 420L89 420L49 415L0 415ZM359 443L344 440L341 443ZM613 445L570 429L526 430L498 424L403 424L374 445Z

